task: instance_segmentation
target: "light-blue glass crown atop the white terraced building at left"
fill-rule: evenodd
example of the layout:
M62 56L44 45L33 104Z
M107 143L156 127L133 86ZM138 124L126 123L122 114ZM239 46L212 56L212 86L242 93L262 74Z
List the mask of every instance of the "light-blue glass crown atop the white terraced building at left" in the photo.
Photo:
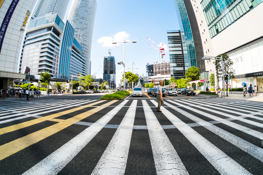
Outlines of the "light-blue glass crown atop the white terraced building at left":
M43 16L40 18L35 18L35 19L29 21L27 24L27 30L30 28L33 28L33 27L37 27L39 25L49 24L49 23L53 23L53 22L55 22L55 24L58 25L58 27L61 29L61 31L63 31L64 23L59 18L59 16L57 14L52 14L49 16Z

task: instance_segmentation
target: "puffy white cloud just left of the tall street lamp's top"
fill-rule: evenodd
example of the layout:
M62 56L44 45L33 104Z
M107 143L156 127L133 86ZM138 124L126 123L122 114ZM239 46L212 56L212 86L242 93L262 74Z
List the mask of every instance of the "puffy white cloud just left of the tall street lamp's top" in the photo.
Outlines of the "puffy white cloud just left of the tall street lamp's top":
M114 37L100 37L97 42L102 44L103 47L113 47L113 42L120 42L120 41L130 41L129 39L129 34L126 32L118 32L114 35ZM117 44L119 45L119 43Z

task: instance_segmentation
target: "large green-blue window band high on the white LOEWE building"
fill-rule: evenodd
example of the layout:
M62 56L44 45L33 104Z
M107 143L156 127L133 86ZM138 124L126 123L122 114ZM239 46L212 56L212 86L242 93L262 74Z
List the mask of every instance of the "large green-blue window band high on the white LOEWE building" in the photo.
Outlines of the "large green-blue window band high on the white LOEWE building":
M210 37L213 38L263 0L203 0L201 6L208 24Z

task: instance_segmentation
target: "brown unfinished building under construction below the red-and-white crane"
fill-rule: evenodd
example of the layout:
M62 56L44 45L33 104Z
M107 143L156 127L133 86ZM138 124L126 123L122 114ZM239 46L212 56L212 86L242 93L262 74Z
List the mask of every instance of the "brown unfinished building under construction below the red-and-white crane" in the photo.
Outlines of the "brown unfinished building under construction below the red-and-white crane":
M157 75L170 75L170 62L156 63L156 64L146 64L146 72L148 76Z

